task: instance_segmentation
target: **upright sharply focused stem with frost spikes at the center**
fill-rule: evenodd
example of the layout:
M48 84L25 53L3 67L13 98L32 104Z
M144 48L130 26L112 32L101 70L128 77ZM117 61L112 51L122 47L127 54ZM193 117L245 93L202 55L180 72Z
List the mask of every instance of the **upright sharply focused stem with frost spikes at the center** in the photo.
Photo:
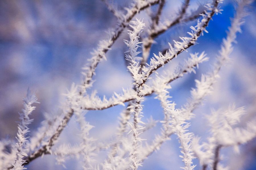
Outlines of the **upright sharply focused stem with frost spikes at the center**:
M138 154L138 143L142 141L142 139L139 137L141 131L144 127L141 126L141 124L144 124L144 122L141 121L142 117L142 105L141 102L143 101L143 96L140 94L143 86L139 87L139 84L141 83L141 73L140 73L140 65L139 61L141 58L139 58L137 55L140 52L137 52L137 49L140 47L138 44L142 43L139 42L139 35L145 26L145 24L136 19L136 21L131 22L133 25L130 25L133 28L133 31L129 31L129 37L130 41L125 40L125 44L129 47L129 54L125 55L125 58L130 61L130 65L127 67L128 70L131 72L133 76L134 83L133 85L136 88L136 97L135 97L135 103L132 103L131 106L127 107L127 109L130 109L130 113L134 116L133 117L133 124L129 124L131 127L131 132L133 132L133 149L130 152L130 160L132 162L132 169L136 170L138 169L138 166L141 166L141 162L139 162L139 159L137 157Z

